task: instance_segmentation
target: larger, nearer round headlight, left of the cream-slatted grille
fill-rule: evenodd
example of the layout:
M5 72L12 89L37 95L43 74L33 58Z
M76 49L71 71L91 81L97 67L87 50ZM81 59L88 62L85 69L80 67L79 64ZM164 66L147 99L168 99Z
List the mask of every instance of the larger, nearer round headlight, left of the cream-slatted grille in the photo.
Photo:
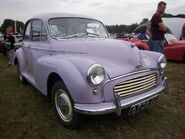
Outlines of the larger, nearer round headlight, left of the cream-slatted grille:
M99 64L92 65L87 72L87 81L89 84L96 86L103 82L105 79L105 70Z

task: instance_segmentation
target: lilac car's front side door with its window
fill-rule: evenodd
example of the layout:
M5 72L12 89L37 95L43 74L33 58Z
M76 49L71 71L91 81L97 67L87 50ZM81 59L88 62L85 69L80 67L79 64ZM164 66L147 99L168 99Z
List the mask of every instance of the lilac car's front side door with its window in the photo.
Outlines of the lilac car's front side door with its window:
M46 28L44 22L41 19L33 19L31 23L31 40L30 43L30 52L32 60L30 75L33 82L35 81L35 74L37 69L35 68L38 64L38 61L43 56L49 55L50 52L50 43L47 39Z

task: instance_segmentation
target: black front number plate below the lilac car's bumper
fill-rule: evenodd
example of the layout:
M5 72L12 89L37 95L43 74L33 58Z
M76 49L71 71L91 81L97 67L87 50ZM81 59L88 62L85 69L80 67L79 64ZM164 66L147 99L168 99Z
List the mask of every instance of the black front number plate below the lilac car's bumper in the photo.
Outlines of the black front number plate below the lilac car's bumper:
M157 100L158 100L158 96L155 96L153 98L150 98L150 99L147 99L147 100L144 100L144 101L141 101L141 102L139 102L137 104L132 105L130 107L130 109L129 109L128 115L129 116L133 116L136 113L144 111L145 109L150 107L152 104L156 103Z

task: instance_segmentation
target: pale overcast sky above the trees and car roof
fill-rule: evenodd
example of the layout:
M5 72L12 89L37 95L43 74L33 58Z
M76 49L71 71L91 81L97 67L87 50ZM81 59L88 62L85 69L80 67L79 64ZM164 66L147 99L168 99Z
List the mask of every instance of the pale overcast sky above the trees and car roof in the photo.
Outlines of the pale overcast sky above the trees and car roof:
M0 24L13 19L25 22L40 13L67 12L88 15L106 25L139 23L151 18L160 0L0 0ZM166 12L185 14L185 0L164 0Z

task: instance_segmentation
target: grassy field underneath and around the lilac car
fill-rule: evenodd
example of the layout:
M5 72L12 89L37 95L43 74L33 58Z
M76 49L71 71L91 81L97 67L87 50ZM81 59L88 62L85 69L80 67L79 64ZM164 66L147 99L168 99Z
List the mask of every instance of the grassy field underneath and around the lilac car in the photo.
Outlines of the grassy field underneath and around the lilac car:
M86 116L68 130L56 118L49 98L19 82L16 69L0 54L0 138L184 139L185 63L168 62L168 92L156 105L132 118Z

